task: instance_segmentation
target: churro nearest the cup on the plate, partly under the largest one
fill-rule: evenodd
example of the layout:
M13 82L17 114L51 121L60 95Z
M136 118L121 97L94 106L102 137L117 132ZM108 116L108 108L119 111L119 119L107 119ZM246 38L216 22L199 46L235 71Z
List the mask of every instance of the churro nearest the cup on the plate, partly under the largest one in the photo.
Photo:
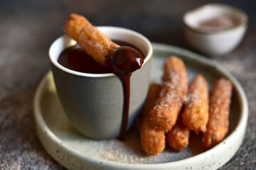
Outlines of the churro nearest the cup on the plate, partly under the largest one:
M139 132L142 148L148 155L156 155L164 150L166 145L165 134L163 130L156 130L149 122L149 111L154 107L161 86L151 84L146 97L144 107L140 115Z

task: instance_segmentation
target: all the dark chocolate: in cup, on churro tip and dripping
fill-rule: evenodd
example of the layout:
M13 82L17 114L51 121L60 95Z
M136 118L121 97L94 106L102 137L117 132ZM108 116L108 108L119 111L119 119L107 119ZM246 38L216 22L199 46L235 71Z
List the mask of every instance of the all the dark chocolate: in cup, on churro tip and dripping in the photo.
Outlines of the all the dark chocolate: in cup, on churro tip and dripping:
M110 73L119 77L122 81L124 91L124 106L122 128L119 133L119 140L124 140L124 132L127 128L129 117L129 94L130 94L130 77L132 72L142 67L144 58L141 52L136 47L129 45L127 42L114 41L121 47L110 50L109 55L106 56L107 67L95 62L95 60L87 55L79 45L68 47L63 50L58 58L58 62L68 69L73 69L77 72L85 72L91 74Z

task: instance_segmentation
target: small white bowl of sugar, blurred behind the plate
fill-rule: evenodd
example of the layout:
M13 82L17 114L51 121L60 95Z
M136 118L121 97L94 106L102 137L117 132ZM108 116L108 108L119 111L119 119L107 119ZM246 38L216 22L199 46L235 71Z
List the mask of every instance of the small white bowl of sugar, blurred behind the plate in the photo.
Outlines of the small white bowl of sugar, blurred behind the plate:
M224 55L238 46L247 30L247 14L225 4L208 4L183 16L188 43L206 55Z

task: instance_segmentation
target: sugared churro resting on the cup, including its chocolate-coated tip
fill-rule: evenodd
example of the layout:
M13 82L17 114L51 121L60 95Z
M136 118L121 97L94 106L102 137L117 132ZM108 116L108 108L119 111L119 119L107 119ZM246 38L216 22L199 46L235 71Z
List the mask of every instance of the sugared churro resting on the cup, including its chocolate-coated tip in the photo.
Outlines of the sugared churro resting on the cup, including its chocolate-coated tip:
M83 16L70 14L64 30L78 42L82 50L114 74L131 74L142 67L144 59L139 51L115 44Z

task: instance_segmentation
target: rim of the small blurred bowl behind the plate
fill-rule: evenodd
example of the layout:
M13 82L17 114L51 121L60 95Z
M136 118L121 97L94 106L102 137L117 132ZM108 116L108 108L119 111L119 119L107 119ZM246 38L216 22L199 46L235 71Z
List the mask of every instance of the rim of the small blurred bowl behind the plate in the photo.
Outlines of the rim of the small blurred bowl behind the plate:
M235 26L232 26L230 28L220 29L220 30L206 30L206 29L201 29L201 28L197 28L197 27L195 28L186 22L186 18L191 13L194 13L196 11L202 10L203 8L209 8L212 6L217 6L217 7L223 8L224 10L228 9L230 11L238 13L239 16L241 16L241 19L240 19L240 21L238 21L238 23L235 24ZM183 21L183 26L193 32L201 33L201 34L221 34L221 33L227 33L231 30L236 30L236 29L242 28L242 27L247 28L248 16L244 11L240 10L239 8L235 8L234 6L230 6L228 4L221 4L221 3L212 3L212 4L206 4L203 6L198 6L197 8L193 8L190 11L187 11L186 13L183 14L182 21Z

